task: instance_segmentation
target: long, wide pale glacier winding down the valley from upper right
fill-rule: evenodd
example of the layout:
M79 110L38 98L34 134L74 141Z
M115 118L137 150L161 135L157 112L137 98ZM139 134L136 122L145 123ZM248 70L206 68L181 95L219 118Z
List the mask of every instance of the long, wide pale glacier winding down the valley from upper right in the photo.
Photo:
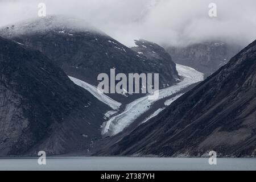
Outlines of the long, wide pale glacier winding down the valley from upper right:
M184 77L184 80L176 85L159 90L158 100L172 96L173 94L179 92L181 89L204 80L204 74L196 71L191 67L176 64L176 68L179 72L179 75ZM177 98L178 97L176 97L176 99ZM120 133L123 131L123 129L133 123L135 119L137 119L141 114L150 109L150 106L158 100L148 100L148 96L145 96L131 102L126 106L122 113L115 115L107 122L105 122L105 126L102 129L102 135L113 136Z

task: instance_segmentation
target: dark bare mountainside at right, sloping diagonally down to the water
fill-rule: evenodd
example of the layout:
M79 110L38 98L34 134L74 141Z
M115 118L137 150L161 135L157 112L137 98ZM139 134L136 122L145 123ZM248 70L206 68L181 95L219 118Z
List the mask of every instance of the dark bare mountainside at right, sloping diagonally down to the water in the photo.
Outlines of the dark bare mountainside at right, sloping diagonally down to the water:
M159 115L96 155L256 153L256 40Z

